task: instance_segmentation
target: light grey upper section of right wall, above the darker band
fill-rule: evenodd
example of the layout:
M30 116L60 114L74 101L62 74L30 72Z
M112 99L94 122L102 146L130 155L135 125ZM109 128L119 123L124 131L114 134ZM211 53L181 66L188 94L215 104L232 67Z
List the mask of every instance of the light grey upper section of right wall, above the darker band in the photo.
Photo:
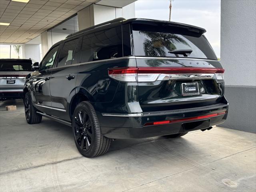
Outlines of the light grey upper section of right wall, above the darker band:
M256 86L256 1L221 1L220 59L225 84Z

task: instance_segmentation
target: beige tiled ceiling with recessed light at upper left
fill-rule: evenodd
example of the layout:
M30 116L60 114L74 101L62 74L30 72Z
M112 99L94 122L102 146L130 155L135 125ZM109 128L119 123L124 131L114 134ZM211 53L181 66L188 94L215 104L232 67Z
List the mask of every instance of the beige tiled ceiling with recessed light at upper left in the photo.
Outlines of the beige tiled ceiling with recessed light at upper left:
M26 43L100 0L0 0L0 43Z

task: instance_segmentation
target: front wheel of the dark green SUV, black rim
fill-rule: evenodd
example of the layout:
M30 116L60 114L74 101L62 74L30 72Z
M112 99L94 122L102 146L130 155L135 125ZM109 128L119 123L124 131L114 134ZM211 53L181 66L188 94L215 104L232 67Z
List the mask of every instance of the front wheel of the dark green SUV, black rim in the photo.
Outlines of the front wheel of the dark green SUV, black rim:
M36 113L36 108L32 105L32 99L29 92L26 92L24 98L25 117L28 124L37 124L42 121L42 115Z

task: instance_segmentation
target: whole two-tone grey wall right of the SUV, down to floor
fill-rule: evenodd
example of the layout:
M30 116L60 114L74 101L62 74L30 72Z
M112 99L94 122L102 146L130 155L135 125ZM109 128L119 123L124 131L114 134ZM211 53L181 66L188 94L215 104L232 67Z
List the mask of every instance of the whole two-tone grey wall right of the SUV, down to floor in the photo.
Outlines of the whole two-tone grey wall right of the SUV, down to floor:
M221 1L220 59L228 119L222 126L256 132L256 1Z

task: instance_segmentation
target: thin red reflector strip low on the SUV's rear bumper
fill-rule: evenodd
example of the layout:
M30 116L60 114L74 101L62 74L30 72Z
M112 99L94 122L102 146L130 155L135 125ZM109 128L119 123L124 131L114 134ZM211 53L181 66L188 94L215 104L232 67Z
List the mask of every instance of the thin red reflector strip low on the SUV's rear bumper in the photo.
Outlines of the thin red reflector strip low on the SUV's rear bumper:
M220 113L214 113L210 115L204 115L204 116L198 116L198 117L190 117L190 118L183 118L183 119L174 119L174 120L164 120L164 121L157 121L157 122L150 122L144 124L144 126L149 126L149 125L160 125L160 124L168 124L168 123L178 123L178 122L184 122L184 121L191 121L191 120L200 120L200 119L206 119L210 117L215 117L219 115L224 115L227 112L220 112Z

